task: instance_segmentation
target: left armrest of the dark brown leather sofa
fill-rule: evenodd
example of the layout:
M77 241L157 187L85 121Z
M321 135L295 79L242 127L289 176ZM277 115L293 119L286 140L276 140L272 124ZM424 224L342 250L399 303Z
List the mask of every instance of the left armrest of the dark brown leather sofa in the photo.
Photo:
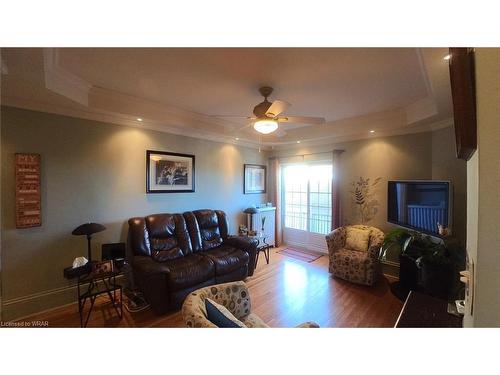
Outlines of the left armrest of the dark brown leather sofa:
M146 300L157 314L169 310L168 283L170 273L167 265L149 256L133 256L131 259L134 282L144 293Z

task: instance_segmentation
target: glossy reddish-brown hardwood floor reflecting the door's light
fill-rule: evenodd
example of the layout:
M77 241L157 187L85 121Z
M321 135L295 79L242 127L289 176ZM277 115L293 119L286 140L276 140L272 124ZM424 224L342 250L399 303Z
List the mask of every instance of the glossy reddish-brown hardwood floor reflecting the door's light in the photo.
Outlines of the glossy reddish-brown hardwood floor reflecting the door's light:
M393 327L403 306L389 290L386 278L373 287L333 279L328 257L306 263L271 250L270 264L261 254L259 265L246 282L252 312L271 327L294 327L315 321L321 327ZM79 327L75 304L30 317L50 327ZM116 317L105 298L96 301L89 327L184 327L180 312L156 316L146 310Z

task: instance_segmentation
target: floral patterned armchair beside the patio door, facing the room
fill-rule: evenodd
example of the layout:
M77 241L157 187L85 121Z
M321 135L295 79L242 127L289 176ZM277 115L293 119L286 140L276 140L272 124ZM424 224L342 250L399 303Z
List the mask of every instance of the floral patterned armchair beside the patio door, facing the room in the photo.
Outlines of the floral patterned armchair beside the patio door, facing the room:
M345 248L349 228L370 231L366 251ZM356 284L373 285L382 274L379 252L384 242L384 232L366 225L340 227L326 236L328 245L328 271L335 277Z

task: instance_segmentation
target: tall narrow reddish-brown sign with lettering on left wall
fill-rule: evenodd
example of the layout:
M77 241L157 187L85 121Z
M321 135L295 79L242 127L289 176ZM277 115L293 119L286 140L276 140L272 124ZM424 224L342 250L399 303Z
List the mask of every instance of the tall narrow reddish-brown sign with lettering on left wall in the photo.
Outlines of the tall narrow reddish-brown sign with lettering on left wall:
M16 154L16 228L42 225L39 154Z

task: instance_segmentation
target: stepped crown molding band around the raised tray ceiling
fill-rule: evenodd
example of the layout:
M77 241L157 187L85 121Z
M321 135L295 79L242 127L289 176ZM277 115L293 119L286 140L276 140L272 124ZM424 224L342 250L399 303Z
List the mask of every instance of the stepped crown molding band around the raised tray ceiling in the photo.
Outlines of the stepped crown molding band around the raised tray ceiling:
M391 111L371 113L296 129L280 127L277 132L270 136L263 136L251 131L239 131L241 130L240 123L185 110L168 103L93 86L61 66L58 48L45 48L43 50L44 84L48 90L70 99L71 102L64 103L61 100L59 104L52 104L43 101L43 99L35 101L8 96L2 97L2 100L4 104L13 107L151 129L263 150L273 147L297 146L297 140L300 140L302 145L330 144L373 137L373 134L369 134L367 129L376 129L376 136L390 136L432 131L449 126L446 125L447 120L429 125L429 122L437 117L439 111L423 51L417 48L416 55L427 90L426 97L404 108ZM2 71L4 65L2 60ZM5 67L5 69L7 68ZM137 118L139 117L143 121L138 122Z

